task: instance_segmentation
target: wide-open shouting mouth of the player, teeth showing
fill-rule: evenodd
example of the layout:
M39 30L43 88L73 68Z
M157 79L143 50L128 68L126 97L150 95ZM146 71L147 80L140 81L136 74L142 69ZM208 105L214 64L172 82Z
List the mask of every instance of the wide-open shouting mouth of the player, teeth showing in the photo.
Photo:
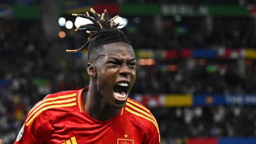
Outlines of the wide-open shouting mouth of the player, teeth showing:
M129 82L117 82L117 84L114 86L114 97L116 97L116 99L120 101L126 100L128 96L128 90Z

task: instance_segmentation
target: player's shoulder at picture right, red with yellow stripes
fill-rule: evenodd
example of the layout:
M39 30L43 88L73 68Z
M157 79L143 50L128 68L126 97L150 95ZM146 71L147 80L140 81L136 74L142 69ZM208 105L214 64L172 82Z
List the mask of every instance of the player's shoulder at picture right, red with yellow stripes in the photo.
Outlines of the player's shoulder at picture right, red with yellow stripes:
M133 123L140 124L149 130L156 129L159 131L155 117L144 105L129 98L124 110L129 115L130 121L133 121Z

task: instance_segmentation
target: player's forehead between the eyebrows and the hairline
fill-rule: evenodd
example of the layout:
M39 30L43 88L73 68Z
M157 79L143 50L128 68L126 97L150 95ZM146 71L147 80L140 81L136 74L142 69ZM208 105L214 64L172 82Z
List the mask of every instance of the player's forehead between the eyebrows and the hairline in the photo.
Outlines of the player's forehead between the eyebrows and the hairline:
M135 57L132 46L124 42L105 44L103 48L107 57Z

